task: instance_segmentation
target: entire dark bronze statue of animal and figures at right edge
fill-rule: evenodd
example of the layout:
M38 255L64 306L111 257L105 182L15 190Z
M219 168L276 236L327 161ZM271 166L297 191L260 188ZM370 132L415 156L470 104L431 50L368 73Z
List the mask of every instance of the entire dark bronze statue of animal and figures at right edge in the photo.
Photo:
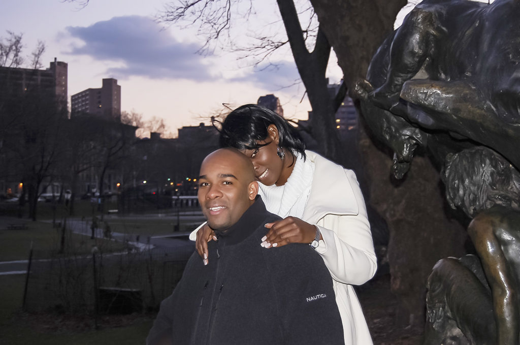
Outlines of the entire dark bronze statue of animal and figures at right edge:
M401 178L427 150L447 197L472 218L476 255L428 278L425 344L518 345L520 0L424 0L356 85L363 117Z

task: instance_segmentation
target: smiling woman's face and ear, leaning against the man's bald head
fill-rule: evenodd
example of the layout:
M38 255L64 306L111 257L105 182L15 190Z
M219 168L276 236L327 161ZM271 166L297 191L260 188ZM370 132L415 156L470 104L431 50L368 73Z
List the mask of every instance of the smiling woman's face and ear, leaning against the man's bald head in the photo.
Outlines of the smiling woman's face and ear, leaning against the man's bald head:
M276 184L281 186L287 182L294 166L293 157L289 150L285 150L285 158L282 160L277 154L278 129L275 125L269 125L269 136L265 140L257 142L264 145L253 150L241 150L253 162L256 180L266 186ZM291 165L291 166L289 166Z

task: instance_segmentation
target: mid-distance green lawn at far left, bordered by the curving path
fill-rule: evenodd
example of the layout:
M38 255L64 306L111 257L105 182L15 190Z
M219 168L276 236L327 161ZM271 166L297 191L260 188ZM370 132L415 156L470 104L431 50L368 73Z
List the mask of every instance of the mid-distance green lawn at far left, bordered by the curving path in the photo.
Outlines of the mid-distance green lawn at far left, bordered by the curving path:
M60 229L45 222L28 222L28 229L0 229L0 261L27 260L31 242L33 249L57 253L60 245ZM77 254L90 253L96 246L103 252L122 251L126 249L123 242L110 241L102 238L90 239L88 236L68 233L66 236L66 252L72 248Z

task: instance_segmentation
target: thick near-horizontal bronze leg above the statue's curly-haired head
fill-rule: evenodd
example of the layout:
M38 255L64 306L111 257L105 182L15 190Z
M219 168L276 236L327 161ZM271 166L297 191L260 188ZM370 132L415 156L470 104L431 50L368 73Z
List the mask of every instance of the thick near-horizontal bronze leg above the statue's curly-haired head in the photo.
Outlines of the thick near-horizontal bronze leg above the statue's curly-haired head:
M520 167L515 145L520 126L504 121L496 108L470 81L413 79L407 81L400 94L408 111L397 113L423 129L447 131L456 138L470 138L492 147Z

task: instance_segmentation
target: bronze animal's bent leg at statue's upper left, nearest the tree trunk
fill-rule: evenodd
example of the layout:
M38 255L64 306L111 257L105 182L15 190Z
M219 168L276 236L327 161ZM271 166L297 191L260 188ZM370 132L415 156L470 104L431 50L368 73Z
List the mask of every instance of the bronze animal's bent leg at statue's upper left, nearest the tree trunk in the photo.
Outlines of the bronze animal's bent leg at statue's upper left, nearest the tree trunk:
M384 109L396 105L402 84L419 72L443 32L435 10L415 7L395 34L386 81L370 93L369 99Z

